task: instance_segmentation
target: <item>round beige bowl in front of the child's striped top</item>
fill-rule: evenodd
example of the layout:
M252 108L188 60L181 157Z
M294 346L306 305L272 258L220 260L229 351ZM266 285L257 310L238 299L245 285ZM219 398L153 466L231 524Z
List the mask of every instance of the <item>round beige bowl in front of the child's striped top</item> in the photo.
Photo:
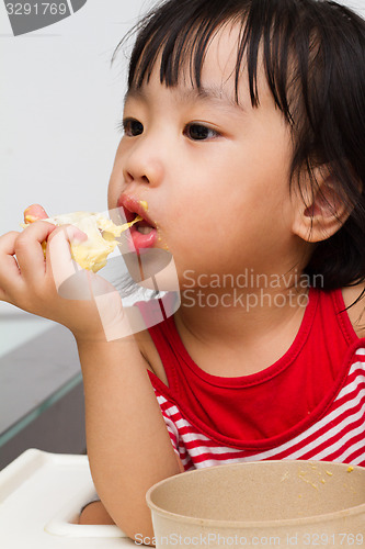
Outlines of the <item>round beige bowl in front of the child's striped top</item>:
M147 492L160 547L365 547L365 468L259 461L197 469Z

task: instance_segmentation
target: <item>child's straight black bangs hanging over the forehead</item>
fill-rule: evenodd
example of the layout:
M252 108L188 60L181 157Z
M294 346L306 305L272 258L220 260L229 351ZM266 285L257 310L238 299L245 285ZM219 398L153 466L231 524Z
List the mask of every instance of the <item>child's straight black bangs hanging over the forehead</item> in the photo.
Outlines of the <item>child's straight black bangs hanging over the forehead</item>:
M129 63L128 88L139 89L145 81L148 82L160 59L161 83L175 87L182 75L187 74L191 85L199 90L204 59L212 40L225 26L237 25L236 102L239 103L239 81L247 68L252 107L260 104L256 81L260 52L274 101L292 123L287 97L288 58L296 58L294 66L299 60L301 79L305 81L308 78L311 33L304 19L297 0L182 0L179 3L162 3L133 30L137 32L137 40ZM296 41L298 34L300 37L297 36ZM298 48L296 43L300 44ZM293 72L290 78L292 83L297 80Z

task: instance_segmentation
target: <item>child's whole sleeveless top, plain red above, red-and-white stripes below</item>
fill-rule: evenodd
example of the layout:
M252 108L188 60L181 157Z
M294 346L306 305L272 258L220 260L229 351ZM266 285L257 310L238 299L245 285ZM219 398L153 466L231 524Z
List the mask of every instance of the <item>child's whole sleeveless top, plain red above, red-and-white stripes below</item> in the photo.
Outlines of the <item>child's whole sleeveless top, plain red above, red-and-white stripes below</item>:
M311 289L309 295L286 355L249 377L201 370L172 317L149 328L169 386L152 372L149 377L186 471L270 459L365 467L365 338L355 335L339 290Z

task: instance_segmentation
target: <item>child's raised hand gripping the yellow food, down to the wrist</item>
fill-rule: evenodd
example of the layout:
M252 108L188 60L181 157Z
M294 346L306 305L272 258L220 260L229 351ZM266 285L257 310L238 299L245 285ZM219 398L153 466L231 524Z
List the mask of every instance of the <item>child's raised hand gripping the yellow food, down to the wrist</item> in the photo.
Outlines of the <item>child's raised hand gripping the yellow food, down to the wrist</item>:
M72 225L56 227L39 205L25 213L39 221L0 237L0 300L68 327L77 339L127 335L115 288L72 260L69 244L88 236ZM42 243L46 242L46 258Z

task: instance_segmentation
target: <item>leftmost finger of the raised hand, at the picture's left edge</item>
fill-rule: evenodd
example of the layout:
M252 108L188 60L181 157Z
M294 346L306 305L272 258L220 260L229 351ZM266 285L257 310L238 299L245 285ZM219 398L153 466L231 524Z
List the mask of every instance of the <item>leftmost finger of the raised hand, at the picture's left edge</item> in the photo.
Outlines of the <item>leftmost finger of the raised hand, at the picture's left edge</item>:
M21 272L14 257L15 240L20 233L11 231L0 237L0 300L9 300L11 292L18 287Z

